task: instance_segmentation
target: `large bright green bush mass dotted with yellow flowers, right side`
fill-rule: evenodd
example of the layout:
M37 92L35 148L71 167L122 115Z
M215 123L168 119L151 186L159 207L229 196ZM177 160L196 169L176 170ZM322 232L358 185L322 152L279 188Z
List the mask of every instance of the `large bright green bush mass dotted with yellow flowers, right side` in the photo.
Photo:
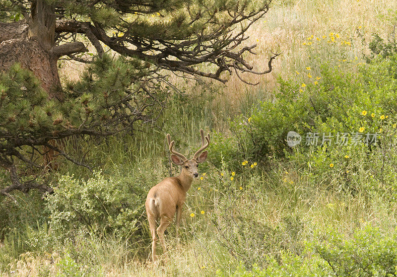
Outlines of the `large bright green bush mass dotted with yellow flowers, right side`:
M397 55L378 57L369 66L325 64L312 83L280 79L273 99L256 106L251 117L231 123L240 151L246 159L299 161L314 177L313 184L326 188L358 192L394 187L396 62ZM293 149L286 141L289 131L302 136ZM317 134L317 140L310 141L310 134L312 139Z

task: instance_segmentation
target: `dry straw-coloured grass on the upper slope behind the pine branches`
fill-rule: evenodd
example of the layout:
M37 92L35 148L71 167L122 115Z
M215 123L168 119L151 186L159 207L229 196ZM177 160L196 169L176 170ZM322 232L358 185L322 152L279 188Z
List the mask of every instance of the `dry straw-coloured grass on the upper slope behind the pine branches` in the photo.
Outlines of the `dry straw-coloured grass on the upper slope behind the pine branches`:
M214 105L225 103L238 107L245 94L261 91L258 97L266 97L277 86L277 76L289 77L295 70L302 70L309 65L308 46L303 45L311 35L322 38L329 33L337 33L340 39L350 41L351 47L344 49L349 57L362 58L366 47L357 35L357 28L368 40L372 33L377 32L386 37L393 28L393 22L384 18L388 10L396 10L397 2L389 0L275 0L265 18L255 24L248 32L247 44L257 44L257 55L247 57L255 70L267 69L270 52L282 53L273 63L273 71L265 75L242 74L249 82L260 82L256 87L243 83L236 74L223 85L214 81L220 87L219 99ZM397 22L394 22L397 23ZM92 50L92 49L91 49ZM92 50L93 51L93 50ZM321 58L327 59L330 53L325 47ZM78 79L84 65L77 62L66 62L61 70L62 78ZM204 86L193 85L194 81L186 81L171 74L170 79L178 87L189 93L197 93L206 89Z

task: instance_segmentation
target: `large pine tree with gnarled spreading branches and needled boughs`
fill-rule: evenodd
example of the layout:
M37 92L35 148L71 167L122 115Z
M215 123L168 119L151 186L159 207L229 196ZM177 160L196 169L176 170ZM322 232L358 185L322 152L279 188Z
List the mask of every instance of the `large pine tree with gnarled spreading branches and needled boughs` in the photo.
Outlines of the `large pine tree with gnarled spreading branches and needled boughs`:
M277 55L257 72L244 59L256 45L243 46L269 2L0 0L0 165L11 180L0 194L52 192L34 179L22 182L15 164L41 168L35 159L46 151L79 164L54 141L154 121L167 97L167 70L223 83L233 71L270 72ZM61 84L60 57L89 64L79 81Z

